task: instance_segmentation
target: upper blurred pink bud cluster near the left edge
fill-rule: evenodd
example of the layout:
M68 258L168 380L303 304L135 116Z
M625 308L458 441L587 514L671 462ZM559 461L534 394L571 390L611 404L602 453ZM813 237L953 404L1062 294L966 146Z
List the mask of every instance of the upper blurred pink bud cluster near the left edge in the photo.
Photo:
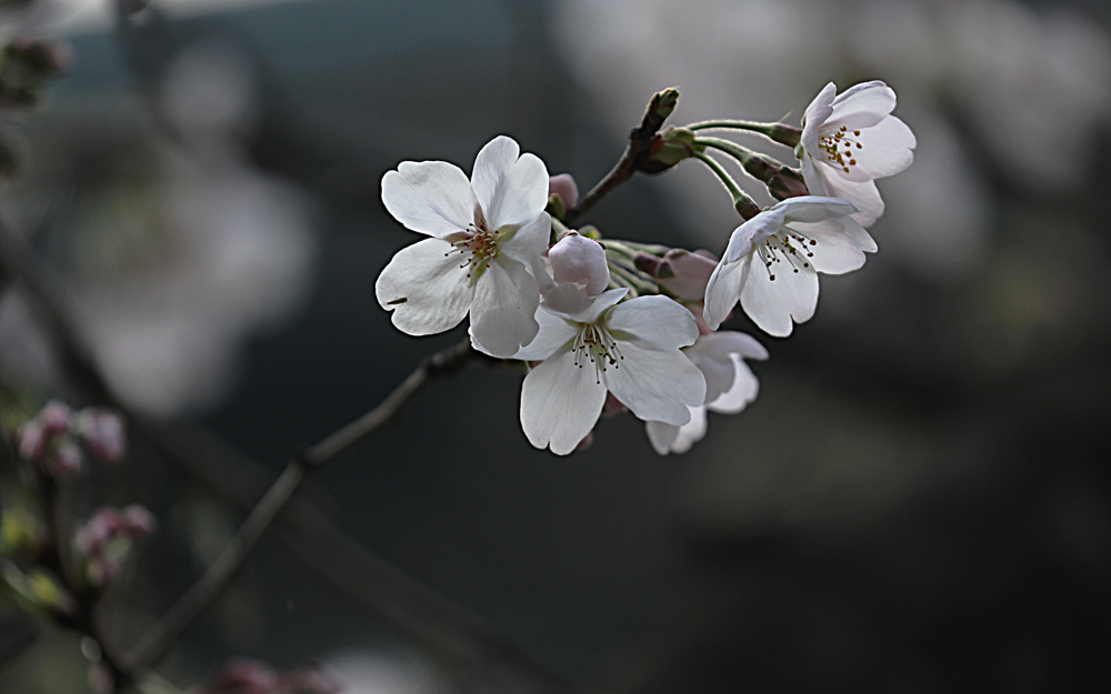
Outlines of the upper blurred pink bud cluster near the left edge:
M84 443L102 463L118 463L127 453L127 434L119 414L102 408L80 412L52 400L39 414L20 426L20 455L46 473L61 477L80 472Z

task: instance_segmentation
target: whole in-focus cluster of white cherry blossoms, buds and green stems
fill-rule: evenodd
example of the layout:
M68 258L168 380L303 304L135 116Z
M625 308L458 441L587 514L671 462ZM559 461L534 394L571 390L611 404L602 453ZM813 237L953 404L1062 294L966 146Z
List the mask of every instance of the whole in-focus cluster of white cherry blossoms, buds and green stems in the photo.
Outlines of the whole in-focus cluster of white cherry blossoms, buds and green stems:
M744 218L720 260L569 229L573 179L549 177L504 135L482 148L470 178L443 161L402 162L383 177L382 202L427 238L386 266L378 301L411 335L469 316L476 350L526 363L521 426L539 449L570 453L603 411L629 410L659 453L684 452L704 435L707 411L740 412L759 390L745 360L767 350L719 330L738 302L760 330L787 336L814 314L818 273L857 270L877 250L865 231L883 212L874 179L905 169L915 145L894 105L883 82L841 94L830 83L801 130L712 121L655 134L641 170L701 160ZM703 137L709 129L793 147L800 169ZM733 158L779 202L760 209L708 149Z

